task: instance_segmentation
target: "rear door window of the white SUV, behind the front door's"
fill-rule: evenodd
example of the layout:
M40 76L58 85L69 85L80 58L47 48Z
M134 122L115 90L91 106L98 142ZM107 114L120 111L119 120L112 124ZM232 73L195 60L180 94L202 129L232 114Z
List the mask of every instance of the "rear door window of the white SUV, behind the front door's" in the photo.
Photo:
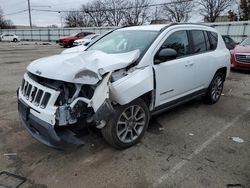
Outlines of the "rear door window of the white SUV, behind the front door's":
M203 31L192 30L191 35L193 39L193 53L196 54L207 51L206 41Z

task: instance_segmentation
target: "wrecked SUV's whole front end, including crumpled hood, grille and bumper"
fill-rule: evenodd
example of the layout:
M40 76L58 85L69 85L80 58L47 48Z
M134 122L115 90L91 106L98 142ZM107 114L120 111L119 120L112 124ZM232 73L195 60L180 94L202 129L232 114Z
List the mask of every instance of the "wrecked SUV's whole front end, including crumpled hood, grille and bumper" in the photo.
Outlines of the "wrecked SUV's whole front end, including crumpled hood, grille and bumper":
M61 147L64 142L83 144L74 130L90 124L97 128L106 125L114 113L115 102L109 96L111 78L126 75L124 67L138 57L138 51L113 56L86 52L34 61L18 89L22 124L33 137L51 147ZM112 75L113 71L116 73Z

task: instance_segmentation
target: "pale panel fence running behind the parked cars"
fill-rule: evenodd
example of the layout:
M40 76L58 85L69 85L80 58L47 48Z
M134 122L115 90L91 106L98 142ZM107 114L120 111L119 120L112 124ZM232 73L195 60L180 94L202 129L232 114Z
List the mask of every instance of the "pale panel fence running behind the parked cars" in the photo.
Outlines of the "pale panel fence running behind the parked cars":
M240 42L250 36L250 21L244 22L217 22L206 23L216 28L222 35L229 35ZM88 28L39 28L39 29L1 29L0 33L16 34L22 40L56 41L62 36L74 35L80 31L91 31L104 34L115 27L88 27Z

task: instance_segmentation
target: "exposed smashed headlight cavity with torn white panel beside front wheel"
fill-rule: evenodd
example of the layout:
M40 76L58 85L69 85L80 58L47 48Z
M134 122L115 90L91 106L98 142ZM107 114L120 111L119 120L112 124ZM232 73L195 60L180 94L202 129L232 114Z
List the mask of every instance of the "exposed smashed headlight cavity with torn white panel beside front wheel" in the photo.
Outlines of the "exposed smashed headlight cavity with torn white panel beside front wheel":
M94 122L97 127L105 122L114 112L109 99L109 83L112 73L107 74L97 86L75 84L75 92L71 98L58 101L61 105L56 111L59 126L75 124L79 119L87 123Z

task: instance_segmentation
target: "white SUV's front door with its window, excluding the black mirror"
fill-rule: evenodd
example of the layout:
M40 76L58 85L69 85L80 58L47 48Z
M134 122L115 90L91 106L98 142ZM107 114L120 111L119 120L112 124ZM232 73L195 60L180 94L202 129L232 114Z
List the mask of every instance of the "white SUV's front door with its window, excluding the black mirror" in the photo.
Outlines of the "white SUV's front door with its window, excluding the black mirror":
M189 56L189 38L185 30L173 31L166 36L160 49L171 48L176 50L177 58L170 61L158 62L157 53L154 58L156 80L155 107L169 101L181 98L195 89L195 64Z

